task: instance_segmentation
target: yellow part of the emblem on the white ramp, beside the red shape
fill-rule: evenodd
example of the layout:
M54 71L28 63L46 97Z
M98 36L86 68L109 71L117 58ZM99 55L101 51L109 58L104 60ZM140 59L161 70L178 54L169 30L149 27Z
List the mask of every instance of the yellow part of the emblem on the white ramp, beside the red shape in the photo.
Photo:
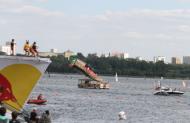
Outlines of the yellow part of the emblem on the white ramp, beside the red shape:
M16 101L9 100L3 103L20 111L42 73L29 64L12 64L0 70L0 74L9 81L12 94L16 99Z

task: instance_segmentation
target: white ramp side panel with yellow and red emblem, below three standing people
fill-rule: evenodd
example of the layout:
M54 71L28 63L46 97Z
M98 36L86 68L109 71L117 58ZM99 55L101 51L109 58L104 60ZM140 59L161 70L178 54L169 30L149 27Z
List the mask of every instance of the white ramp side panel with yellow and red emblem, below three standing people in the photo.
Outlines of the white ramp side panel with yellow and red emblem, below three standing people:
M50 63L49 58L0 56L2 105L9 111L27 115L23 106Z

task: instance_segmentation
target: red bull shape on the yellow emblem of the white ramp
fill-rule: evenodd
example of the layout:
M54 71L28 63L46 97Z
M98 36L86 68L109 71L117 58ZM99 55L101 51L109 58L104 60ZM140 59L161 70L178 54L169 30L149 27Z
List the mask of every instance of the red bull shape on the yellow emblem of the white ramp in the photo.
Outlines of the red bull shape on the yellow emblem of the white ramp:
M16 102L16 98L13 95L12 87L6 77L0 74L0 101L11 100Z

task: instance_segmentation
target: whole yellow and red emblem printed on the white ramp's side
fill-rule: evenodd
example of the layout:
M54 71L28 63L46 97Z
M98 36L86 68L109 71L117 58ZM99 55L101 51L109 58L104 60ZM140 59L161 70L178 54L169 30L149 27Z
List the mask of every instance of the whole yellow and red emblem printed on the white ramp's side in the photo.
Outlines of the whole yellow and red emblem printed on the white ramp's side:
M1 68L0 101L21 110L41 75L41 71L30 64L16 63Z

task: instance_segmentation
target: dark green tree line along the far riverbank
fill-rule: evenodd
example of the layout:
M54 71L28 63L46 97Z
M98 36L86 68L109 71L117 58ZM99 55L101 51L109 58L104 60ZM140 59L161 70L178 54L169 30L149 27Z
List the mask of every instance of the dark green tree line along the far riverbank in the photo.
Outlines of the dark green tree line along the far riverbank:
M141 61L137 59L121 59L117 57L97 57L88 54L85 57L77 53L77 58L88 63L88 65L100 75L139 76L139 77L168 77L168 78L190 78L190 65L165 64ZM70 62L62 55L50 57L52 63L48 72L54 73L79 73L78 70L69 66Z

